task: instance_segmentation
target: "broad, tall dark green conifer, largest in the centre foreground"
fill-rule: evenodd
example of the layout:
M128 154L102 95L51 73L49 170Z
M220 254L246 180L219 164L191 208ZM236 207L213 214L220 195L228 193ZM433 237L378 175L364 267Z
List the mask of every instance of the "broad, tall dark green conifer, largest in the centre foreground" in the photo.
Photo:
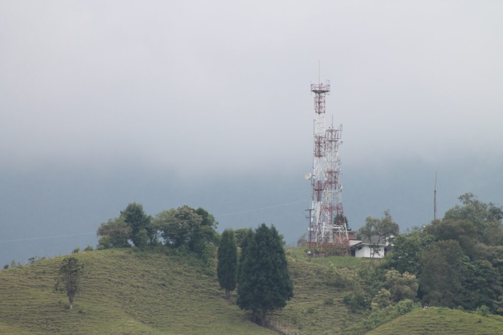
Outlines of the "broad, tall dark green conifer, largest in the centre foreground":
M274 226L262 224L241 248L236 302L265 325L267 313L284 307L293 296L283 241Z

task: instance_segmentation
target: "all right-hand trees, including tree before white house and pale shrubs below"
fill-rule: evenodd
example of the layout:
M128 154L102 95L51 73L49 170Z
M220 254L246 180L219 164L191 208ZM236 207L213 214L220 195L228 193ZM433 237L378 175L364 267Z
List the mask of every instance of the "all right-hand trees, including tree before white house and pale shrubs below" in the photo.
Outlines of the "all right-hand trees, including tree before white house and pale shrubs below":
M503 315L503 208L472 193L442 219L398 234L389 211L367 218L364 235L389 236L393 247L380 262L362 265L338 285L354 311L377 311L402 300Z

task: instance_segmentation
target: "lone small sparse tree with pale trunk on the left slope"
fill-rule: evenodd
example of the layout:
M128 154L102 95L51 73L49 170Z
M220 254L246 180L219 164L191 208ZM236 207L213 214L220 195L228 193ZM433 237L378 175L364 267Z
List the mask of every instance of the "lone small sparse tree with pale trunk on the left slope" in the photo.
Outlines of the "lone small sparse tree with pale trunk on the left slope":
M73 298L80 291L80 278L83 273L83 264L74 256L67 256L61 261L56 276L56 291L66 292L70 303L70 309L73 308Z

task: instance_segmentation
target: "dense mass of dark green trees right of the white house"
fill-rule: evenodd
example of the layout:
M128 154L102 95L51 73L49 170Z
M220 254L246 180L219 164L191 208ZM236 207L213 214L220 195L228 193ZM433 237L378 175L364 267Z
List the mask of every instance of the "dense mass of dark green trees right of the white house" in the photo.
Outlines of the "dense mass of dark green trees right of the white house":
M471 193L459 200L423 231L398 236L381 266L415 274L428 304L503 314L502 208Z

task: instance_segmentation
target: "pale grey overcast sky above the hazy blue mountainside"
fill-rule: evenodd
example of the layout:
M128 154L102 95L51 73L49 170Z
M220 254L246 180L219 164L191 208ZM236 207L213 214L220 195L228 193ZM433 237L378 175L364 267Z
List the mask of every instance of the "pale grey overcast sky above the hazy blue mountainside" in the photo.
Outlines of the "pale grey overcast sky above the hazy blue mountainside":
M503 153L498 1L0 6L3 165L309 167L318 60L346 164Z

